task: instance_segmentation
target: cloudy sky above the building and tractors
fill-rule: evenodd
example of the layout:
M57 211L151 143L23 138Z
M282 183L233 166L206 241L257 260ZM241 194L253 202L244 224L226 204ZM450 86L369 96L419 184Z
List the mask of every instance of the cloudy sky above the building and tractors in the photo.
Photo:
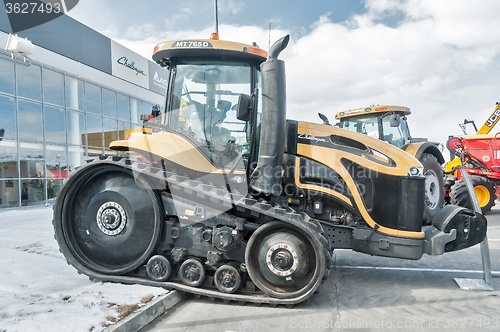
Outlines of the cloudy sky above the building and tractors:
M500 101L500 1L218 2L221 39L267 50L269 39L290 34L282 53L289 118L404 105L412 136L444 143L464 119L484 123ZM208 38L213 3L80 0L70 16L151 58L160 41Z

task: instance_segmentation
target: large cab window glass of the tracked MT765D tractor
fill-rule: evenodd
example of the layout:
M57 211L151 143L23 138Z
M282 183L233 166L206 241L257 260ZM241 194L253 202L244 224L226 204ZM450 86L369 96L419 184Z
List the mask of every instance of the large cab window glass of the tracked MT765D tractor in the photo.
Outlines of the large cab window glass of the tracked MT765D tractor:
M251 94L249 63L183 61L177 64L170 126L189 136L214 164L230 167L248 151L249 126L236 118L240 94Z

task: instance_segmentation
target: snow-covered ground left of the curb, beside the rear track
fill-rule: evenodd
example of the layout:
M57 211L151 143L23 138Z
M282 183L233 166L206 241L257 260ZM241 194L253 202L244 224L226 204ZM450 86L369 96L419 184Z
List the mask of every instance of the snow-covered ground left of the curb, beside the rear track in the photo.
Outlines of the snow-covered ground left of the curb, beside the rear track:
M79 275L59 253L51 207L0 211L0 332L102 331L166 292Z

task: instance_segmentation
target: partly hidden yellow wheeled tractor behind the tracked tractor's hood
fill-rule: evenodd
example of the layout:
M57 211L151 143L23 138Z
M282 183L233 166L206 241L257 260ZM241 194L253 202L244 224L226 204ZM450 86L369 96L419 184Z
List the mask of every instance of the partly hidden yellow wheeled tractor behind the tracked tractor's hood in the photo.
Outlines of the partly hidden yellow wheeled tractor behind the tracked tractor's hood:
M410 135L407 115L410 109L402 106L375 106L358 108L335 115L338 126L392 144L417 158L424 166L425 209L424 224L432 219L444 205L443 171L444 157L438 143L427 138L414 138Z

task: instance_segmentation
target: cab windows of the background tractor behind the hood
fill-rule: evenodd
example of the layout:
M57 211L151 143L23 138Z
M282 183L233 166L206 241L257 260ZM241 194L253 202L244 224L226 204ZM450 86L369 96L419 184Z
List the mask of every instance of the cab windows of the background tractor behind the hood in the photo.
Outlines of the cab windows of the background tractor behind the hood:
M378 121L381 117L382 132L379 133ZM410 135L404 117L401 117L399 126L391 127L388 113L377 117L358 116L342 119L339 125L340 128L381 139L399 148L410 142Z

